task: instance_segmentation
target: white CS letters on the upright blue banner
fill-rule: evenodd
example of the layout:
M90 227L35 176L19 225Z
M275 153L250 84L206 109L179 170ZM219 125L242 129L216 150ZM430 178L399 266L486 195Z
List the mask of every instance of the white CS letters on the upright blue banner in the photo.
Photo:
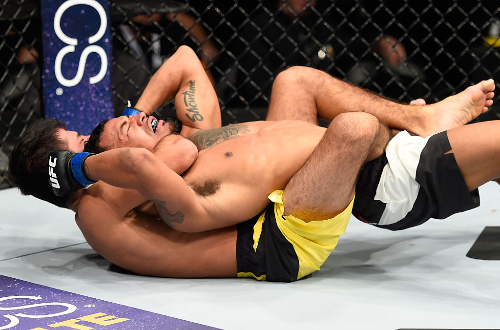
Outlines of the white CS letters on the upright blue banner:
M88 37L88 43L90 43L90 45L86 46L85 49L83 49L83 51L81 52L76 75L72 79L66 79L62 75L62 69L61 69L62 58L67 53L74 52L74 46L78 44L78 40L76 38L71 38L71 37L67 36L62 31L60 23L61 23L61 17L62 17L62 14L64 13L64 11L66 11L68 8L70 8L74 5L77 5L77 4L86 4L86 5L91 6L95 10L97 10L97 12L99 14L99 18L100 18L100 26L99 26L98 31L94 35ZM59 6L59 8L57 9L57 11L55 12L55 15L54 15L54 31L55 31L55 34L57 35L57 37L62 42L67 44L67 46L62 47L59 50L59 52L57 53L57 55L55 56L55 63L54 63L55 78L57 79L57 81L59 81L59 83L61 85L66 86L66 87L71 87L71 86L77 85L81 81L81 78L83 77L83 70L84 70L84 66L85 66L85 61L87 59L87 56L91 52L95 52L100 56L101 64L100 64L99 73L90 77L89 82L91 84L97 83L100 80L102 80L102 78L106 75L106 69L107 69L106 52L104 51L104 49L102 49L102 47L95 45L95 44L92 44L92 43L100 40L100 38L106 32L106 27L107 27L106 11L102 7L102 5L95 0L68 0L68 1L63 2Z

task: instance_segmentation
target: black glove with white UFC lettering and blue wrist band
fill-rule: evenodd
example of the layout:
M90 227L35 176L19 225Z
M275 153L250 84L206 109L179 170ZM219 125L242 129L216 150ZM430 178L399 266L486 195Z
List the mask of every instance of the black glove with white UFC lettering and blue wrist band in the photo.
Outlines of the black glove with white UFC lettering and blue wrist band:
M48 154L48 180L56 196L64 196L81 188L88 188L92 181L83 173L83 162L95 153L53 150Z

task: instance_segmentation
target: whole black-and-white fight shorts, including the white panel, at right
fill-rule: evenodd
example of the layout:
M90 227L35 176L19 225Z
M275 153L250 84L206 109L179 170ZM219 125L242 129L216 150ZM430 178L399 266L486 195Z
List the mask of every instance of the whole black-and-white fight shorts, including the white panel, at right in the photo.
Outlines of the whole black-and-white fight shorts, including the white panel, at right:
M352 214L400 230L479 206L478 190L468 191L449 150L445 131L425 138L399 132L361 170Z

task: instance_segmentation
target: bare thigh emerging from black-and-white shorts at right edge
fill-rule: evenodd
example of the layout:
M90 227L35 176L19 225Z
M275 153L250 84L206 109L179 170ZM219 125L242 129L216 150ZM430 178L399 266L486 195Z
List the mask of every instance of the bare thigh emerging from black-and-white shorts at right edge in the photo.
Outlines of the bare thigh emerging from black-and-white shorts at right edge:
M450 129L448 139L469 190L500 177L500 120Z

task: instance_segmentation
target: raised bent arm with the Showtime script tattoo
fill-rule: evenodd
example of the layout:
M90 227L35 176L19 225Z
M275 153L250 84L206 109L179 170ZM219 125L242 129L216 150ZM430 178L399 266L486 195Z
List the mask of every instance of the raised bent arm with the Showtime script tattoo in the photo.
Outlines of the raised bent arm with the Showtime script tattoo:
M181 134L221 126L217 95L194 51L180 46L149 80L135 107L147 114L174 99Z

